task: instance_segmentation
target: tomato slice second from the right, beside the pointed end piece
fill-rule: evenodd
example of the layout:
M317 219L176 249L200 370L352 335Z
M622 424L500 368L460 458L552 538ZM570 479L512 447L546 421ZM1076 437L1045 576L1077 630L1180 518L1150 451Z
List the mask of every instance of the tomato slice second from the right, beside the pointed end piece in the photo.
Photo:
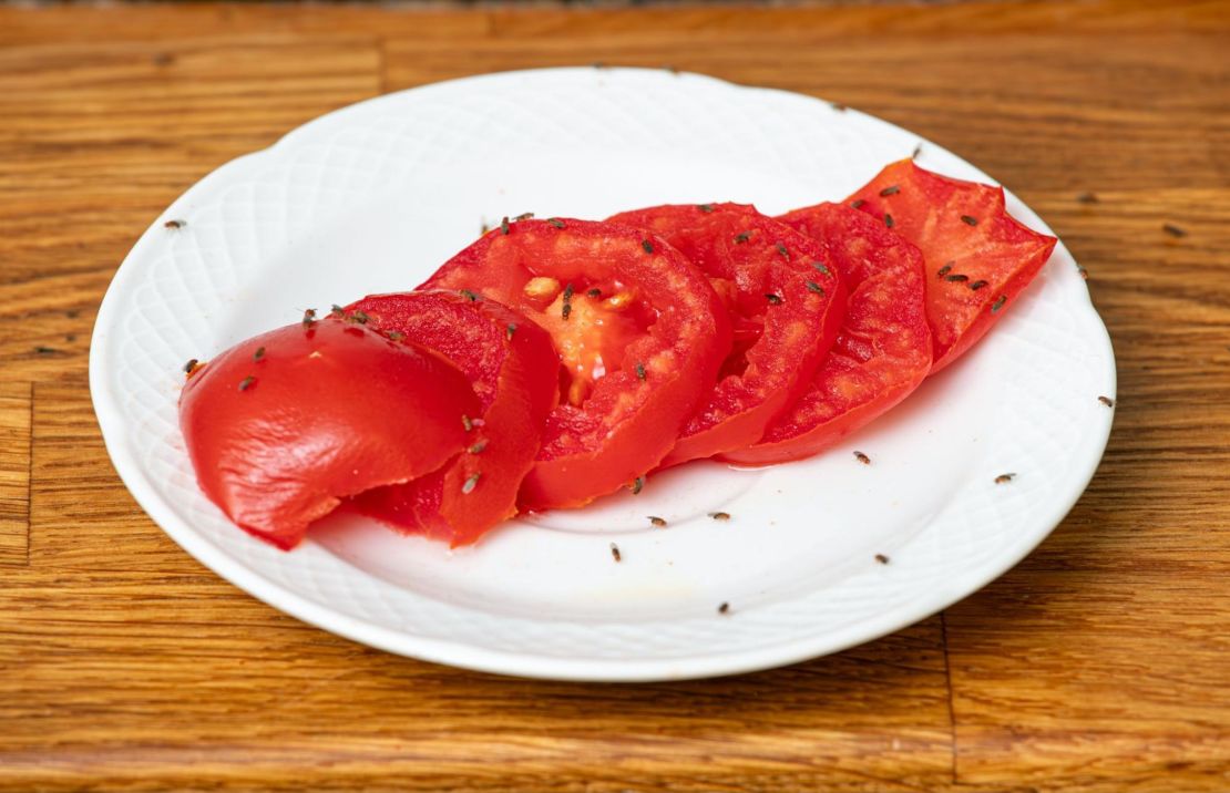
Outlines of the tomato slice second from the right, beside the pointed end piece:
M850 296L836 343L807 391L760 443L722 455L731 462L768 465L823 451L905 398L931 366L926 275L916 247L841 204L800 209L781 220L828 243Z

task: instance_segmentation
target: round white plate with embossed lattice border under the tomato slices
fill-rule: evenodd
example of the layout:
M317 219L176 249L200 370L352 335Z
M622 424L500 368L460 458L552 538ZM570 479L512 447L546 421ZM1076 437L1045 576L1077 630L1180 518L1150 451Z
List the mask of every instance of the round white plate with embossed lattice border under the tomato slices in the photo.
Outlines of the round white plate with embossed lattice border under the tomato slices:
M685 466L640 495L512 521L456 552L362 521L335 520L292 553L250 537L197 491L176 400L188 358L309 306L411 288L502 215L707 200L779 213L839 199L920 143L925 167L990 181L862 113L668 71L497 74L330 113L202 180L124 261L90 357L107 450L141 507L204 564L394 653L659 680L866 642L1009 569L1097 466L1112 417L1097 397L1114 396L1114 358L1063 245L977 349L830 452L760 471ZM1009 208L1050 231L1012 195ZM186 225L165 227L171 219ZM1017 476L995 484L1006 472ZM715 510L732 519L711 520ZM648 515L669 526L652 529Z

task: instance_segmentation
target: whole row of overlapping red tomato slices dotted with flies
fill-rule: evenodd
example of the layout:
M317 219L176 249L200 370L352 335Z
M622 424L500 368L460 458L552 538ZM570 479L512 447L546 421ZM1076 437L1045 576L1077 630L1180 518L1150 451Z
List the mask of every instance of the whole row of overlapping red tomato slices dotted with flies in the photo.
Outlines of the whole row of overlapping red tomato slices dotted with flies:
M697 459L818 454L970 348L1050 256L999 188L886 167L780 218L523 215L413 291L191 361L202 491L292 548L344 509L467 545Z

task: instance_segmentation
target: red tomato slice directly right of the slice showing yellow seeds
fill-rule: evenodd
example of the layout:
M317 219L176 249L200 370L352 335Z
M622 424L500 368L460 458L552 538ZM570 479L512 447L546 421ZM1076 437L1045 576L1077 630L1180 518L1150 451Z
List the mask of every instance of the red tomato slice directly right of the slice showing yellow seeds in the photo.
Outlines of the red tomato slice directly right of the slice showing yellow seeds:
M836 338L845 286L824 246L747 204L652 207L608 219L661 235L726 296L734 348L663 466L750 446Z

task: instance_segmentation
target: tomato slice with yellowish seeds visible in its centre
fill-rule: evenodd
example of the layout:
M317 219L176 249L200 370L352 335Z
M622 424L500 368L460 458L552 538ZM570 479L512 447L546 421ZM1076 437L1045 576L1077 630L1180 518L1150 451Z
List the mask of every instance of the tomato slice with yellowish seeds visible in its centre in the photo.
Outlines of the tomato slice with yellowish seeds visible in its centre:
M509 305L555 342L562 398L522 486L526 509L579 507L658 465L731 349L705 275L661 237L625 226L503 224L423 286Z

